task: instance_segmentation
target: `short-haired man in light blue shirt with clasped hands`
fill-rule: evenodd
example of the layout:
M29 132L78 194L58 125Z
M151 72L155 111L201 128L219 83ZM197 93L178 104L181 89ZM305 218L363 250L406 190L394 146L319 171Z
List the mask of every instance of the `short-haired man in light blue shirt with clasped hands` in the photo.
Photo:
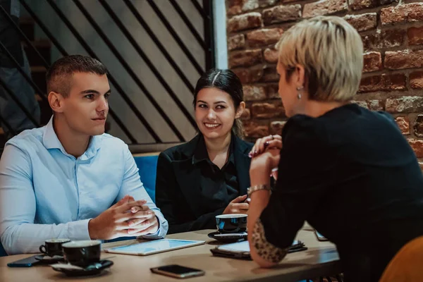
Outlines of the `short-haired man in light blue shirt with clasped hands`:
M163 238L168 223L140 181L128 146L104 133L106 68L85 56L47 73L49 123L6 143L0 161L0 235L9 255L51 238Z

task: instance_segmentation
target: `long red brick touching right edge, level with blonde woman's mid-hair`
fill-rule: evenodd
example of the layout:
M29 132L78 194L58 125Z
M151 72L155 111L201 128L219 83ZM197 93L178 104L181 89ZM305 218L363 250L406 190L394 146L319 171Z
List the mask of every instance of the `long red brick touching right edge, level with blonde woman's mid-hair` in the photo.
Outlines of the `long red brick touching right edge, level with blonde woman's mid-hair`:
M385 68L398 70L402 68L421 68L423 66L423 50L386 51Z

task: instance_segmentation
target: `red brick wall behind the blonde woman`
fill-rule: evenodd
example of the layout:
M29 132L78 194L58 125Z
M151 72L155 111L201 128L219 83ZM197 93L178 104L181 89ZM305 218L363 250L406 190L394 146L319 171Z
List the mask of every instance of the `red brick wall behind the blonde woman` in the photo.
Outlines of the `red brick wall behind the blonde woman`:
M423 159L423 1L226 0L229 68L244 85L248 139L280 133L274 44L302 18L336 15L362 36L364 69L355 102L391 113Z

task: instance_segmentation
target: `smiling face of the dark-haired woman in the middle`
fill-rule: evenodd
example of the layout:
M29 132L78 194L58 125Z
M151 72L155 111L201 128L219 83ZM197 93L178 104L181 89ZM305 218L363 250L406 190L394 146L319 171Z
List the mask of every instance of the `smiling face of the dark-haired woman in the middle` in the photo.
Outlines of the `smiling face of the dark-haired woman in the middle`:
M233 122L240 114L226 92L215 87L206 87L197 94L195 121L206 138L214 139L231 133Z

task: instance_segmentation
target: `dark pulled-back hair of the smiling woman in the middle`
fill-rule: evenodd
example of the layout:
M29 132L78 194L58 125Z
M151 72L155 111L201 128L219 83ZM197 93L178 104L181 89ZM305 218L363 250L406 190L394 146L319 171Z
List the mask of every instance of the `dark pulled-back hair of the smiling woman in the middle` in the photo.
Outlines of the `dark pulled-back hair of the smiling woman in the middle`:
M243 84L235 73L231 70L220 70L211 68L198 79L194 92L194 107L197 103L197 95L200 90L206 87L216 87L231 96L235 111L244 101ZM243 122L240 118L235 118L232 126L232 132L240 138L244 137Z

